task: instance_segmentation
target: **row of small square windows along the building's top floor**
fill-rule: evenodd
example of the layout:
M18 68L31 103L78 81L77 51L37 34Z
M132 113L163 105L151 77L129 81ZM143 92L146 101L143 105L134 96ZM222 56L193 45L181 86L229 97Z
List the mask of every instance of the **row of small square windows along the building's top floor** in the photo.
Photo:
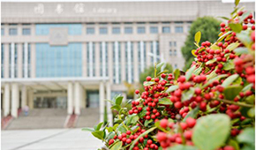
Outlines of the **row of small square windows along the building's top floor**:
M72 29L69 29L69 34L81 34L81 31L70 32ZM158 26L150 26L149 28L150 34L158 34ZM124 27L124 34L133 34L133 27L126 26ZM171 33L169 26L162 26L162 33L169 34ZM184 33L183 26L175 26L175 33ZM4 28L1 28L1 34L4 35ZM9 35L17 35L18 29L17 28L9 28ZM31 29L30 28L22 28L22 35L30 35ZM36 29L37 35L47 35L49 34L49 28L38 27ZM95 27L87 27L87 34L95 34ZM109 34L108 27L100 27L99 34ZM121 34L121 27L112 27L112 34ZM137 34L146 34L146 27L145 26L138 26L137 27Z

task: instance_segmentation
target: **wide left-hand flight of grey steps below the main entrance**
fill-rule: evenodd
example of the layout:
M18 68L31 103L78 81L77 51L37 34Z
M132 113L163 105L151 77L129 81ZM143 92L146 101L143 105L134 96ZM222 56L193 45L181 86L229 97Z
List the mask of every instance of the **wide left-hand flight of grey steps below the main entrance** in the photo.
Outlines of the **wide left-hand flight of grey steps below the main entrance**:
M66 109L31 109L28 116L19 114L6 130L63 128L67 116Z

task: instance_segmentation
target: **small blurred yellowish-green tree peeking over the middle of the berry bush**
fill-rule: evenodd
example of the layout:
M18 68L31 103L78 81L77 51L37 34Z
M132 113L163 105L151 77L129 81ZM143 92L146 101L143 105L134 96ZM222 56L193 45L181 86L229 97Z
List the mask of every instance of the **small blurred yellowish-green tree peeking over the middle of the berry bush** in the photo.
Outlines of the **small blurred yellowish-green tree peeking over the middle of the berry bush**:
M172 72L172 66L171 64L166 64L166 67L164 69L165 71ZM160 69L157 70L157 72L160 72ZM139 74L139 83L143 85L143 82L147 78L147 76L154 77L154 66L147 67L144 72L141 72Z

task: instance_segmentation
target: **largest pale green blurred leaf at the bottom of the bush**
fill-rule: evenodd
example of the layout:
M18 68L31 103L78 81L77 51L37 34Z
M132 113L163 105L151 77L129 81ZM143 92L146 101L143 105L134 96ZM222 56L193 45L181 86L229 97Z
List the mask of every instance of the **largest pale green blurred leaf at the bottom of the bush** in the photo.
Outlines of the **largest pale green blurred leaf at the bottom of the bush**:
M202 150L222 146L230 134L230 117L223 114L202 116L193 129L192 141Z

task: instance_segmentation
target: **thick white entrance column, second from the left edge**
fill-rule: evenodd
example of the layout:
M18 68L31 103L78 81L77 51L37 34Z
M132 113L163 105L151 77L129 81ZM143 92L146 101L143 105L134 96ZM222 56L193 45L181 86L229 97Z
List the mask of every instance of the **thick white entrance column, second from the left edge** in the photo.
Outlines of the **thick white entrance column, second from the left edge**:
M11 116L18 116L19 86L17 83L11 85Z

